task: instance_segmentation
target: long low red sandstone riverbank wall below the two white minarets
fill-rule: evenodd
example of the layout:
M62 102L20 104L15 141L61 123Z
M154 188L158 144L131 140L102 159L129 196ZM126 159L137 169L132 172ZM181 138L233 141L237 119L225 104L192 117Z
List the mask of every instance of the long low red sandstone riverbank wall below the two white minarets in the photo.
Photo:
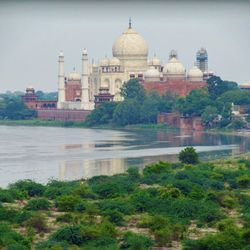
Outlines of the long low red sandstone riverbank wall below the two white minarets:
M41 120L57 120L57 121L85 121L88 110L37 110L37 117Z

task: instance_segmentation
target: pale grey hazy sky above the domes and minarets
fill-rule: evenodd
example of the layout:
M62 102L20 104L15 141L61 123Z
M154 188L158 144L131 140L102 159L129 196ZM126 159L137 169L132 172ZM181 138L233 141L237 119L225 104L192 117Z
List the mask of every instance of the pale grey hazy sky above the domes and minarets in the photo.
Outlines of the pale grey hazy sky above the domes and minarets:
M223 79L250 81L250 1L0 1L0 92L57 90L58 53L65 71L81 68L81 53L98 62L132 26L167 62L178 51L186 69L200 47Z

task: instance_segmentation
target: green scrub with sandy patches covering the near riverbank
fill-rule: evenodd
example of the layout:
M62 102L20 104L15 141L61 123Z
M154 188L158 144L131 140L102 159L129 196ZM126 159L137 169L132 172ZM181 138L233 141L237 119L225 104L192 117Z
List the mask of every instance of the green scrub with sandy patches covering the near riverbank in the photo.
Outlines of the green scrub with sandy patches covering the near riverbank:
M249 249L250 158L205 163L193 148L179 158L142 173L0 189L0 248Z

